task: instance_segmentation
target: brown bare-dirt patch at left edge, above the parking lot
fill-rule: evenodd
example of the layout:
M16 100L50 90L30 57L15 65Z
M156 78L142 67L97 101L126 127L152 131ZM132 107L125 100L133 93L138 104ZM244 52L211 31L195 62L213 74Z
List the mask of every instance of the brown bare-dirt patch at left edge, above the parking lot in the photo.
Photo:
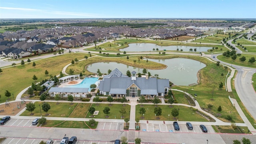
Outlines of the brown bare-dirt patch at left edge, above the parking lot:
M1 104L0 110L4 110L4 111L0 112L0 115L15 116L21 110L26 108L26 104L28 103L29 103L28 101L26 101L26 103L23 103L23 104L21 104L21 102L10 102L9 106L6 106L5 104Z

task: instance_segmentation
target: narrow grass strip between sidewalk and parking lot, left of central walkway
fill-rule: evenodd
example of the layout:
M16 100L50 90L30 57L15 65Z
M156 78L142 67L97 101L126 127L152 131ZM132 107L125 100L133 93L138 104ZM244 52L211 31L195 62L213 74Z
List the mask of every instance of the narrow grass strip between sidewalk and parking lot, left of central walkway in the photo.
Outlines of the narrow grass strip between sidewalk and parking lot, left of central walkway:
M87 125L86 125L87 124ZM42 127L55 127L55 128L89 128L90 124L88 122L82 121L62 121L62 120L46 120L46 124ZM92 129L96 129L98 122L94 126L90 126Z

